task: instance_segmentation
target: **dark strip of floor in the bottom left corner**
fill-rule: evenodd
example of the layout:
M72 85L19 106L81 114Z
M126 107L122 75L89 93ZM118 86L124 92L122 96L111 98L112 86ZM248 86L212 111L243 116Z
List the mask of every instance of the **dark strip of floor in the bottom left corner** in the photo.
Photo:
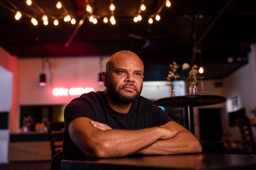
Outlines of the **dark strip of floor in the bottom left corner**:
M50 161L0 163L1 170L50 170Z

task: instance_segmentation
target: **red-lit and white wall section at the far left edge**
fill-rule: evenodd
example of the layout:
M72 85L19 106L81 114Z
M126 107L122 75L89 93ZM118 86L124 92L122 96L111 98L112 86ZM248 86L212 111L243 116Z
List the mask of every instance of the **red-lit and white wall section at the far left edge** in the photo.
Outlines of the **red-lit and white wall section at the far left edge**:
M7 163L9 132L17 122L17 61L16 56L10 55L0 46L0 119L9 120L8 127L0 128L0 163ZM4 113L5 112L5 113ZM6 114L9 113L8 118Z

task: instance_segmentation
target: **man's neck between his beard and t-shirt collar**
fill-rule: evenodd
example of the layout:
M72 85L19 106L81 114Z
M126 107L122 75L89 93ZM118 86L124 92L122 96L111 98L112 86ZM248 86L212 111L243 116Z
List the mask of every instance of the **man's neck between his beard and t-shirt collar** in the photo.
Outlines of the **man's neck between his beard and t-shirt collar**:
M119 113L124 113L124 114L129 112L129 110L132 106L132 103L124 104L124 103L121 103L119 101L113 100L112 98L110 98L107 90L105 90L104 93L105 93L105 96L107 98L107 102L108 102L109 106L113 110L115 110Z

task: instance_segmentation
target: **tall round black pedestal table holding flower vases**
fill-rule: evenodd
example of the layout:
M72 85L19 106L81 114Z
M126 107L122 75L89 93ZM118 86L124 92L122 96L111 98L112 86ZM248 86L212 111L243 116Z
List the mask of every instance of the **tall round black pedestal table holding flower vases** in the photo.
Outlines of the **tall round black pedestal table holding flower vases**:
M225 102L219 95L186 95L155 99L153 103L164 107L183 107L184 126L194 134L193 106L206 106Z

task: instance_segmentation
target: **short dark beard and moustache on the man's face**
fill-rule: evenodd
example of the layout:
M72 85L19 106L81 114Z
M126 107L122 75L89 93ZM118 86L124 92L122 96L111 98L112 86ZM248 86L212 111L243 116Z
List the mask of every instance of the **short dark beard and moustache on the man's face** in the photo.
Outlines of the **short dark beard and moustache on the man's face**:
M121 89L125 88L125 86L133 86L135 88L136 94L133 95L121 93ZM114 82L108 81L108 93L116 101L123 104L129 104L140 96L142 86L143 85L141 85L140 89L138 89L132 82L128 82L125 85L116 88L116 84Z

